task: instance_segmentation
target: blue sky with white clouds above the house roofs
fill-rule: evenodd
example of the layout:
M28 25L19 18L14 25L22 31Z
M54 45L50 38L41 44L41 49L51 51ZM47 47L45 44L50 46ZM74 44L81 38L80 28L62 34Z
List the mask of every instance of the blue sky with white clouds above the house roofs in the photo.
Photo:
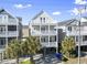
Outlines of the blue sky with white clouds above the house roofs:
M22 24L29 24L42 10L58 22L73 19L77 14L76 8L85 3L87 0L0 0L0 8L14 17L21 17Z

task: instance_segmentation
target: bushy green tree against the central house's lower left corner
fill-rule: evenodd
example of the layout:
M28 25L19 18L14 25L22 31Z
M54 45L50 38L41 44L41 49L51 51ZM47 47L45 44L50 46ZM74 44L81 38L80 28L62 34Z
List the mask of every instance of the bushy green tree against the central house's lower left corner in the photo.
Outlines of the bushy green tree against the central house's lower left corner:
M31 55L31 59L33 61L33 55L40 51L41 44L37 37L35 36L29 36L23 43L22 43L22 52L23 55Z

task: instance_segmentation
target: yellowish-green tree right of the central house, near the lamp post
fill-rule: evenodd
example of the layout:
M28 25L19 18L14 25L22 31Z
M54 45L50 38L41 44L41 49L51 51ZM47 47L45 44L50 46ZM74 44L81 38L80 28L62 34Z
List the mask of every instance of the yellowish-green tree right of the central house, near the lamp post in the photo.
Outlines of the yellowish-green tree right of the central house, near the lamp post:
M72 36L66 36L64 41L62 41L62 54L66 57L75 57L76 56L76 45L75 41Z

